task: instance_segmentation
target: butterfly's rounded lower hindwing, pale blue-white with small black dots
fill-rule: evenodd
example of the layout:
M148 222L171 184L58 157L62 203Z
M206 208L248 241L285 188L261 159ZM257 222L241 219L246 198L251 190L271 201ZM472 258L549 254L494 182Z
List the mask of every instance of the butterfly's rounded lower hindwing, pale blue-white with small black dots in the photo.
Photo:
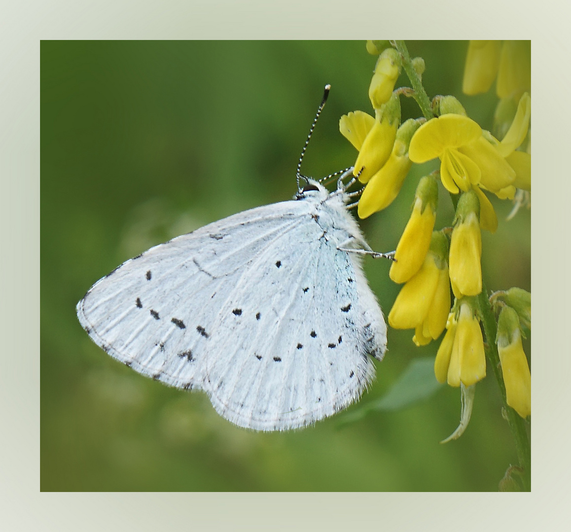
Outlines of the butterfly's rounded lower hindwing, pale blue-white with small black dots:
M293 246L274 242L252 265L248 282L254 293L267 294L264 314L256 320L259 297L244 301L238 288L215 328L220 337L208 357L209 393L216 410L238 425L302 427L356 400L374 375L355 264L332 242L319 241L318 228L311 235L317 246L305 239L307 231L288 234ZM287 259L276 267L286 249ZM237 334L224 334L234 323Z

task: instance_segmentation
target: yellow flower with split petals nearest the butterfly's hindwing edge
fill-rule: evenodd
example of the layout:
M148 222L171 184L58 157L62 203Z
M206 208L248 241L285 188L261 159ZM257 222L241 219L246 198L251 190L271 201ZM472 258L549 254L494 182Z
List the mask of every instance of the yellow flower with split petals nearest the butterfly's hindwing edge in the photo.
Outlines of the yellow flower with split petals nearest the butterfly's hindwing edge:
M389 312L391 327L416 330L417 345L438 338L446 325L450 310L447 251L447 238L435 231L423 265L405 283Z

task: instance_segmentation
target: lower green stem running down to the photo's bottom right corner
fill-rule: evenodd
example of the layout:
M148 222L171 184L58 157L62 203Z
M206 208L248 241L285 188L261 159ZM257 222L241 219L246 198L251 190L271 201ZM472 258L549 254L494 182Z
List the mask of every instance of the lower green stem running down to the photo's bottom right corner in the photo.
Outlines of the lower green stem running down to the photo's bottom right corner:
M494 377L496 377L496 381L500 387L509 428L511 429L514 440L516 441L517 458L520 461L520 466L524 469L524 475L522 477L524 488L529 491L531 489L531 447L529 444L528 433L525 428L525 421L512 407L509 407L506 402L504 378L501 374L500 356L498 355L496 346L496 317L494 316L492 304L488 299L486 287L483 282L482 291L478 296L478 301L480 303L482 324L484 325L484 332L486 335L486 358L488 358Z

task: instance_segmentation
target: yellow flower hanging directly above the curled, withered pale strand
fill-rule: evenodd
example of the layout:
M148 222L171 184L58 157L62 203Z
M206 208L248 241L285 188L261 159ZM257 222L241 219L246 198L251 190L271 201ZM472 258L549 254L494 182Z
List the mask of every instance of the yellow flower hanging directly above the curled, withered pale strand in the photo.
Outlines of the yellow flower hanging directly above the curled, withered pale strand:
M437 355L438 356L438 355ZM480 322L468 300L461 300L458 323L452 342L447 380L451 386L471 386L486 376L484 338Z

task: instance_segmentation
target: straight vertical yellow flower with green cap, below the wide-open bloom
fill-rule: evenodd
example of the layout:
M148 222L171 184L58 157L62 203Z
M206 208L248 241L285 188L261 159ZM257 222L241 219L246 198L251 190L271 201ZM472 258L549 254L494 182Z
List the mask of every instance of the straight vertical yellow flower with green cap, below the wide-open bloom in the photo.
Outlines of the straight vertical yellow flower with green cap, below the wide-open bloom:
M480 202L473 190L460 196L449 257L452 291L457 298L463 295L477 295L482 291L479 212Z

